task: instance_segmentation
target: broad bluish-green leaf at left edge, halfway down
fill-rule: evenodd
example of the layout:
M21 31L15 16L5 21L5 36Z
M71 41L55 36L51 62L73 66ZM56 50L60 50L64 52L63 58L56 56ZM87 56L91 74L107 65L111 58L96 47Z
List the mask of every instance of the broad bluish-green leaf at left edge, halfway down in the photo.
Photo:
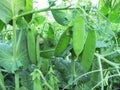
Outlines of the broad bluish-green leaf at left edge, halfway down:
M8 72L13 72L22 67L19 57L13 58L12 47L5 43L0 43L0 66Z

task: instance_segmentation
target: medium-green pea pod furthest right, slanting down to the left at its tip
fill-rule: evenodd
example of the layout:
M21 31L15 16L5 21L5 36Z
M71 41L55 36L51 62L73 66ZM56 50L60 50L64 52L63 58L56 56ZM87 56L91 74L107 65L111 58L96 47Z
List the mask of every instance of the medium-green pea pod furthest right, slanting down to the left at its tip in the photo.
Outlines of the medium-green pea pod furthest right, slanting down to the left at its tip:
M81 61L81 65L85 72L87 72L91 67L95 48L96 48L96 32L95 30L90 30L87 36Z

